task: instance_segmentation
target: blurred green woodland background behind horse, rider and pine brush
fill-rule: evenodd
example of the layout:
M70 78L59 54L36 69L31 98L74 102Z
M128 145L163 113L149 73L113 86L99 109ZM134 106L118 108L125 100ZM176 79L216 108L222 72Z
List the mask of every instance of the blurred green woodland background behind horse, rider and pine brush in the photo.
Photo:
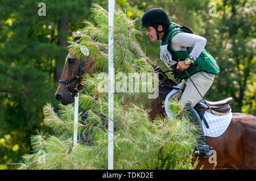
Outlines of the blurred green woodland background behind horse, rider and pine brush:
M38 12L46 5L45 16ZM42 108L54 98L68 53L70 31L91 20L90 7L108 1L0 0L0 169L10 169L31 150L30 137L49 128ZM205 99L232 96L232 112L256 115L256 1L254 0L116 0L115 4L136 19L136 28L149 9L162 8L171 22L205 37L206 49L216 58L221 72ZM39 6L39 7L38 7ZM159 45L146 31L138 42L146 55L159 60Z

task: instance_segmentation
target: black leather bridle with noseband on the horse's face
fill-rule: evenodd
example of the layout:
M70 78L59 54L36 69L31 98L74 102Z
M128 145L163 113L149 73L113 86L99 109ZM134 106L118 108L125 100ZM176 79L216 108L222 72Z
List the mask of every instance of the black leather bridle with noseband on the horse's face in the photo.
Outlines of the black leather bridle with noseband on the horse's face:
M69 90L70 94L73 95L73 96L77 96L77 92L81 92L81 91L79 91L79 90L77 89L77 86L79 86L79 85L84 86L84 85L81 83L81 81L80 81L80 71L81 71L82 73L84 73L84 68L82 68L82 65L83 65L83 64L84 64L84 61L81 60L80 65L79 65L79 70L77 70L77 73L76 73L76 77L73 77L73 78L69 79L68 81L61 81L61 80L59 80L59 83L64 83L64 84L66 85L66 87L68 87L68 90ZM77 79L77 82L78 82L77 85L76 85L76 87L71 87L71 86L70 86L70 83L73 82L73 81L75 81L76 79ZM77 92L76 92L76 91L77 91Z

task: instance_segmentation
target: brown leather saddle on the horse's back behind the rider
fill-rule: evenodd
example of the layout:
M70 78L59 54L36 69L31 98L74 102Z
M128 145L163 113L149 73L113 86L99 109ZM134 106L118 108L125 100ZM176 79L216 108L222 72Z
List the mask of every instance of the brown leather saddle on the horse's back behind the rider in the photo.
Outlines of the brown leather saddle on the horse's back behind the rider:
M212 109L212 112L214 115L226 115L231 111L231 107L229 106L229 103L232 101L233 98L229 97L224 100L220 100L217 102L210 102L208 100L205 100L205 102L208 103L209 107ZM196 104L195 108L197 111L200 111L204 113L205 111L210 112L207 104L205 104L204 100L201 99L199 103Z

